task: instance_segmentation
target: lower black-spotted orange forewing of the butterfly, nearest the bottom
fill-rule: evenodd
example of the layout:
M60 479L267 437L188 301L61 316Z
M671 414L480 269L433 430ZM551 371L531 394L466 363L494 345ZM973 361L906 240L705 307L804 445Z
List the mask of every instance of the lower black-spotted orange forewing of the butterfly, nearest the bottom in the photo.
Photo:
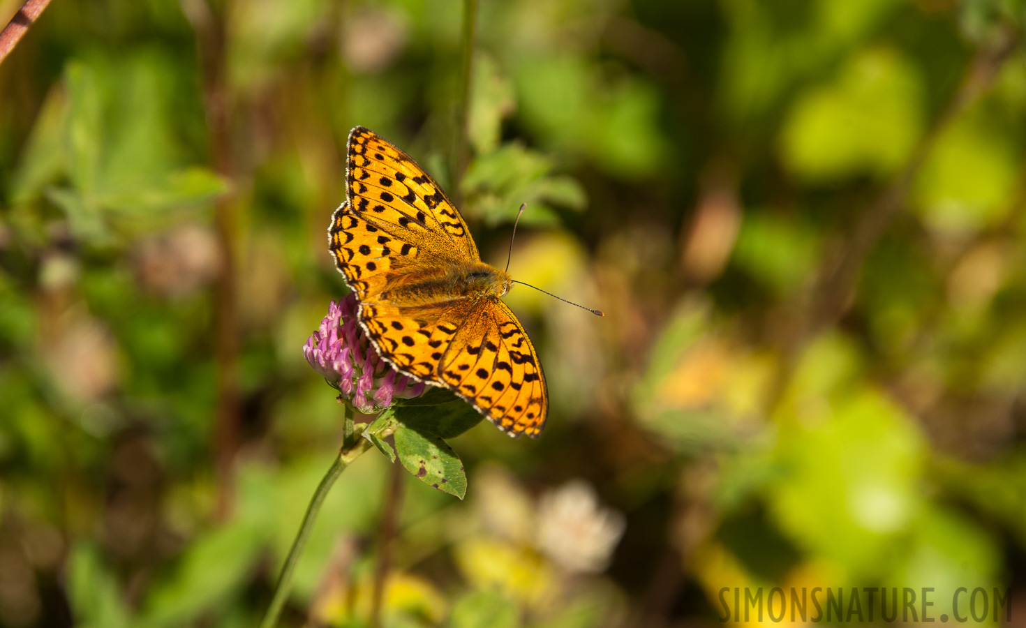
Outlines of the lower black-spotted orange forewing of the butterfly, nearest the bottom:
M549 410L538 353L502 301L482 299L438 366L440 380L500 429L538 436Z

